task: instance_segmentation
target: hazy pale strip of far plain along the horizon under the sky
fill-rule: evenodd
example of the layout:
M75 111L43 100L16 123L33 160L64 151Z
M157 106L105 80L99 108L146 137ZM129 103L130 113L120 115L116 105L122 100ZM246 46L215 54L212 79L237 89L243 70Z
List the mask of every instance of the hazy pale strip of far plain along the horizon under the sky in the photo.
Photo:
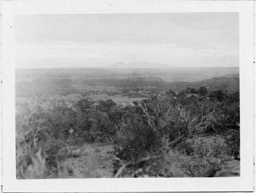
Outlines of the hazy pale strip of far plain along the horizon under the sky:
M160 68L159 66L159 68L16 69L15 79L16 82L19 82L35 79L122 80L127 78L157 77L167 82L195 83L230 74L239 74L239 67Z

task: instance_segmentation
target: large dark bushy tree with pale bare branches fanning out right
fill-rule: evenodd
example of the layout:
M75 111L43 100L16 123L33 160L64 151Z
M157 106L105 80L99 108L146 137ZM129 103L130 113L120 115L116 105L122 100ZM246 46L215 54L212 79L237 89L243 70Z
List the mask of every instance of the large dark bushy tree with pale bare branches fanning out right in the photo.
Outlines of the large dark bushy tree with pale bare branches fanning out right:
M187 137L207 128L205 116L192 115L179 104L174 106L172 98L154 97L141 101L138 106L140 111L127 113L122 118L121 133L116 143L121 159L124 159L123 155L126 155L125 159L134 158L134 153L148 152L154 146L167 150L174 148ZM137 140L144 141L146 145L139 144Z

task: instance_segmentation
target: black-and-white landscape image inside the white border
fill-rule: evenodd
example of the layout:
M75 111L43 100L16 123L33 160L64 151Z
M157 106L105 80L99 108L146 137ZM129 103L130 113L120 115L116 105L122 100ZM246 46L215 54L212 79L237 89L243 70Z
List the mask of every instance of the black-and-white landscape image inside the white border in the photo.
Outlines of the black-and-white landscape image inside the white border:
M240 178L240 16L15 14L15 179Z

